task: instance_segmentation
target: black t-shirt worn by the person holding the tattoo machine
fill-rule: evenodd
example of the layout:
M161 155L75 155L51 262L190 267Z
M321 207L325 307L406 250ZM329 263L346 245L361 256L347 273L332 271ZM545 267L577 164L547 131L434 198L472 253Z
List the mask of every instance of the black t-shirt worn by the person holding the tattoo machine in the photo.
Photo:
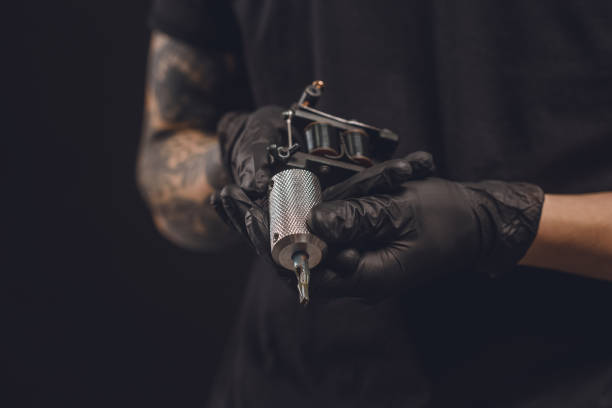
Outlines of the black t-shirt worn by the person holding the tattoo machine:
M242 53L257 106L324 80L322 110L443 177L612 189L609 0L166 0L151 22ZM304 309L262 264L211 406L612 407L611 326L612 285L556 271Z

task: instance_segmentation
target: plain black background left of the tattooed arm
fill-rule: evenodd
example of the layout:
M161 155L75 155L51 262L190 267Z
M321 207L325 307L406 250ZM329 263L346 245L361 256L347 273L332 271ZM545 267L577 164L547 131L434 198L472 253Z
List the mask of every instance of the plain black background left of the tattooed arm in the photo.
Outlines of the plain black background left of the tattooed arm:
M202 406L251 258L174 247L138 194L149 1L11 7L0 404Z

